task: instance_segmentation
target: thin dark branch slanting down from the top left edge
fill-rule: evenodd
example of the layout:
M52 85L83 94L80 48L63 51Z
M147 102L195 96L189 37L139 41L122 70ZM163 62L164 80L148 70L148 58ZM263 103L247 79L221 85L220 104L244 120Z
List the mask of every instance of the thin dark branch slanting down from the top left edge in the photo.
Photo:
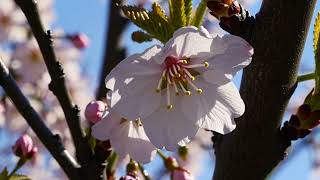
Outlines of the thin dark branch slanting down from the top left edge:
M31 30L39 44L42 56L52 81L49 89L57 97L66 117L72 139L76 148L76 156L81 165L86 165L92 157L89 143L82 132L80 125L79 108L71 101L65 85L65 75L62 66L57 61L50 31L45 32L37 9L35 0L15 0L28 19Z

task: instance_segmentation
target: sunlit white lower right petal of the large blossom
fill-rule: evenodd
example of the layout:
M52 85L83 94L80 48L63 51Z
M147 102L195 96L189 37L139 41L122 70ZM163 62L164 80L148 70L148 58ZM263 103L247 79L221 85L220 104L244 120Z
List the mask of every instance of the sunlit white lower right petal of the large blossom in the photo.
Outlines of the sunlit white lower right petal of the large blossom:
M197 121L199 127L229 133L235 128L234 118L244 112L244 103L234 84L223 86L205 84L198 80L203 94L185 97L182 101L182 111L189 121Z

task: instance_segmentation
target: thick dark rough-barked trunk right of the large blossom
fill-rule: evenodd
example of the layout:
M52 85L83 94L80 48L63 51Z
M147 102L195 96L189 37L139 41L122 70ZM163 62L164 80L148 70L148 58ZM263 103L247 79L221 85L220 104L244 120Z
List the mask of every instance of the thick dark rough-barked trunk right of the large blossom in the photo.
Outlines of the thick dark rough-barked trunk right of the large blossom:
M244 70L245 114L237 128L215 145L213 179L265 179L285 158L279 136L283 113L295 87L297 69L316 0L264 0L250 38L255 54Z

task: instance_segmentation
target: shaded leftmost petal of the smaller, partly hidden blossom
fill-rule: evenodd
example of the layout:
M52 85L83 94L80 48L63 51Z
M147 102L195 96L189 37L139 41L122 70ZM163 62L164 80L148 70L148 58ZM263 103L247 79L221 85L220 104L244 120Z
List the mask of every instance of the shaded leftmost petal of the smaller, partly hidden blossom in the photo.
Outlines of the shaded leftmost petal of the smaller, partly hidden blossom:
M118 113L114 111L107 113L101 121L92 126L93 137L102 141L110 139L112 129L117 127L121 121Z

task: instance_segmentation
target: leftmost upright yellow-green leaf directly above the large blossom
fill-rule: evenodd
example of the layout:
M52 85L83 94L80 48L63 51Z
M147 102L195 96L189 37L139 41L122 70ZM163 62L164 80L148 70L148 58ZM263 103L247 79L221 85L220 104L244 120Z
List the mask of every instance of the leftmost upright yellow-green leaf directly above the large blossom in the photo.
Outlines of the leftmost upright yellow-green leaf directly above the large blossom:
M175 31L187 24L184 0L171 1L171 6L173 12L170 14L170 24L173 25Z

